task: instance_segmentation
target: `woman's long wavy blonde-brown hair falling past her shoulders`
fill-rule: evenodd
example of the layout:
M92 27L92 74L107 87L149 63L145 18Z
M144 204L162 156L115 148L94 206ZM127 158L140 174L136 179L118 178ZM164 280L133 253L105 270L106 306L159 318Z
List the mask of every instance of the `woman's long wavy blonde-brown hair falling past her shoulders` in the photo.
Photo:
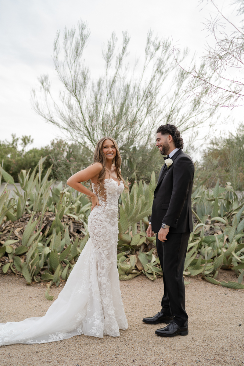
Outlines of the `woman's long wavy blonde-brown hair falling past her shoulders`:
M97 146L95 148L95 152L94 152L94 158L93 158L93 161L94 161L93 164L95 164L95 163L101 163L102 164L102 170L99 173L99 176L98 176L98 179L97 179L97 183L100 185L100 188L99 188L98 193L100 193L103 190L103 188L104 188L104 184L102 182L104 181L105 175L106 175L106 169L105 169L105 167L106 167L106 164L107 164L107 159L106 159L106 156L105 156L105 154L103 152L103 149L102 149L102 144L104 143L105 140L111 140L113 142L113 144L115 145L116 156L113 158L112 164L115 164L117 178L119 180L122 180L122 182L124 183L124 187L126 189L128 189L128 186L125 183L125 180L123 179L123 177L122 177L122 175L120 173L121 156L120 156L119 147L117 145L117 142L112 137L105 136L105 137L101 138L98 141ZM109 176L110 176L110 174L109 174ZM90 185L89 188L91 189L91 185Z

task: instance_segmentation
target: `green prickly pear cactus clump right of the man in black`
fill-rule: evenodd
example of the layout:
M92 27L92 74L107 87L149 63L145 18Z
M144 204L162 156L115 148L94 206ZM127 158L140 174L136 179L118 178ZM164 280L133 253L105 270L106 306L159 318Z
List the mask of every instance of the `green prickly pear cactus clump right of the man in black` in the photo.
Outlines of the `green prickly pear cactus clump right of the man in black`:
M199 187L192 195L192 212L196 219L185 258L184 275L201 276L214 284L242 289L244 276L244 205L240 204L233 187L213 191ZM232 269L237 282L218 281L218 270Z

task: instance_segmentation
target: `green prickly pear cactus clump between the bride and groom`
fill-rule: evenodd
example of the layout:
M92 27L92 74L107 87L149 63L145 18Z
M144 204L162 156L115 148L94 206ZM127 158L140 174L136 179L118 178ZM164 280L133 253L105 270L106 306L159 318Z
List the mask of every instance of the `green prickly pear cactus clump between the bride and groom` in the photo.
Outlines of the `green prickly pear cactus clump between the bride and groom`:
M142 183L142 180L139 184L135 181L130 192L121 194L118 249L122 253L117 255L121 280L132 279L141 273L150 280L162 276L159 259L153 254L156 238L150 238L146 234L155 187L153 172L148 185ZM153 249L147 251L150 246L153 246Z

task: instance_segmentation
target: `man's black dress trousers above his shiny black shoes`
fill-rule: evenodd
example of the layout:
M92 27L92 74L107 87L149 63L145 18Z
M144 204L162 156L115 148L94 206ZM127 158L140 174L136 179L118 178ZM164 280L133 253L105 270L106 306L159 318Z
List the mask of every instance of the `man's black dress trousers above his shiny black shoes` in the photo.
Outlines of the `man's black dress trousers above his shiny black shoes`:
M158 240L157 252L163 271L164 296L162 313L174 317L179 326L186 326L188 315L185 311L185 284L183 279L185 255L190 233L170 233L164 243Z

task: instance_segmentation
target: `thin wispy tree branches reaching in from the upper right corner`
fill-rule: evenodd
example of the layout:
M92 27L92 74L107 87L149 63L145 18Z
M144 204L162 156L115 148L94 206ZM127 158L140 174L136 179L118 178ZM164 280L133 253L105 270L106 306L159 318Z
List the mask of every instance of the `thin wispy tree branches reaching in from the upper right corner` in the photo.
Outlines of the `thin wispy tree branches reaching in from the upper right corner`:
M196 97L214 106L243 107L244 106L244 0L236 0L229 5L229 14L236 14L235 20L230 20L226 9L222 11L215 0L200 0L200 5L211 5L215 16L203 22L204 29L210 38L200 66L195 66L188 72L200 83L199 90L195 89ZM212 42L213 41L213 42ZM177 50L174 49L177 60ZM182 64L179 61L181 68Z

